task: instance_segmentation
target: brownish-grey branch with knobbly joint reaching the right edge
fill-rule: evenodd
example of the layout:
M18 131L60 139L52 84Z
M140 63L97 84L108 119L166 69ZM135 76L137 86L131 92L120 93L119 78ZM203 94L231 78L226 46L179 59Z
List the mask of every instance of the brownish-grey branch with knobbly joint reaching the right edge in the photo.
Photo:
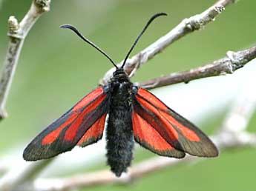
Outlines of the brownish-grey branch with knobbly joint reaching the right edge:
M229 51L226 54L226 57L214 61L211 64L206 64L203 67L197 67L195 69L180 73L171 73L168 76L162 76L136 84L140 87L153 89L180 82L188 83L188 81L199 78L231 74L240 67L243 67L252 59L256 58L256 47L251 47L238 52Z

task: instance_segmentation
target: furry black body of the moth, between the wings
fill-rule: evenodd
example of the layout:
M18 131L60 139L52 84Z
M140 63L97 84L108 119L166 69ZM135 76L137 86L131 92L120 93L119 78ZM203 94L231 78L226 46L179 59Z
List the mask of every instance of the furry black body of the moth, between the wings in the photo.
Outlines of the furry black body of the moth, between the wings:
M107 158L116 176L131 165L134 133L131 121L131 101L128 84L117 84L111 93L107 125Z

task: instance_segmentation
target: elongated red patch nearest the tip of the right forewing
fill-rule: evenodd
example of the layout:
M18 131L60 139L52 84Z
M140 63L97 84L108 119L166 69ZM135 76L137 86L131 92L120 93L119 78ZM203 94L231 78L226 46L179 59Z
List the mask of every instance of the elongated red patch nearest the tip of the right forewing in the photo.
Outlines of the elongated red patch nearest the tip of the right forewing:
M163 115L165 118L168 119L168 121L171 122L171 124L174 124L177 128L179 128L179 130L181 131L181 133L183 133L183 135L188 138L189 141L200 141L199 136L194 133L193 130L188 129L188 127L185 127L183 124L181 124L179 121L177 121L174 117L172 117L171 115L161 112L161 115Z

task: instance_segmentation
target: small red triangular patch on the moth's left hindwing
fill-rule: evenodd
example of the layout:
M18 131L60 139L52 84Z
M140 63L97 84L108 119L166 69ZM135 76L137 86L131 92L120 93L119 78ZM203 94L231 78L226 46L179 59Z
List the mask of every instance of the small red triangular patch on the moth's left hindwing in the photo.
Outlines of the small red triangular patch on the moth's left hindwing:
M107 114L102 115L101 118L99 118L91 127L90 129L85 133L85 135L82 136L80 141L77 145L82 145L83 143L87 142L90 138L97 139L103 134L104 125L105 125L105 118Z

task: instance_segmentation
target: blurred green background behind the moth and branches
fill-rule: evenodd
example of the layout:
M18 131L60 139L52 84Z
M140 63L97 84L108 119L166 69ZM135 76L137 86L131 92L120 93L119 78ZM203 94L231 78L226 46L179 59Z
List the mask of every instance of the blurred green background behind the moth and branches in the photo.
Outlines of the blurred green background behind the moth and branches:
M0 155L30 141L42 127L96 87L99 78L112 67L73 33L60 29L61 24L73 24L114 61L121 61L153 13L166 12L169 16L151 25L134 53L163 36L182 19L201 13L213 3L214 0L53 0L50 12L36 22L24 43L7 101L9 117L0 123ZM256 33L255 6L256 1L240 0L227 7L205 30L180 39L145 64L133 81L188 70L221 58L227 50L252 46ZM29 7L27 0L1 1L0 64L7 50L8 17L14 15L20 20ZM203 126L208 127L209 133L222 119L221 115L214 116L214 120ZM254 130L255 124L253 118L249 129ZM148 151L137 150L135 161L151 156ZM255 150L232 150L216 159L167 167L129 186L110 185L90 190L255 190L255 158Z

